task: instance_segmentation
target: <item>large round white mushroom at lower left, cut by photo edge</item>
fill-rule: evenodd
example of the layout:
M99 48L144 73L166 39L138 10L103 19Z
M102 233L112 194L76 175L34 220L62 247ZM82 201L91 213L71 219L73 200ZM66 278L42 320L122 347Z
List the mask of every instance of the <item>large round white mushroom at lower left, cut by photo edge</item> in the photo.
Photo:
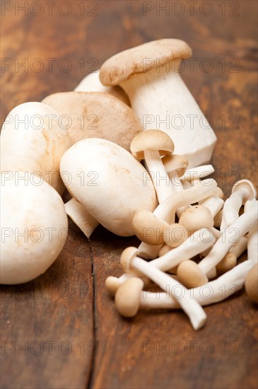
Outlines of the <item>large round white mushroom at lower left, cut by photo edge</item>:
M47 182L1 175L0 283L22 284L43 274L66 241L64 203Z

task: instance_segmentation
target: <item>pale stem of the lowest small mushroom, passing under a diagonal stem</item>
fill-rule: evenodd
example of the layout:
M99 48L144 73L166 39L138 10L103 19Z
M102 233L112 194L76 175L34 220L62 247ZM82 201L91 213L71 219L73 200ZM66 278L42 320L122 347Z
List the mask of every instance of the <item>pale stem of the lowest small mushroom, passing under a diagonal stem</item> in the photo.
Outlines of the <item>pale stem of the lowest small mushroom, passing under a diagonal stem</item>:
M247 273L254 266L252 260L247 260L235 266L218 279L197 288L189 289L192 298L201 306L218 303L236 293L245 283ZM150 293L143 291L140 301L141 308L180 308L178 301L165 293Z

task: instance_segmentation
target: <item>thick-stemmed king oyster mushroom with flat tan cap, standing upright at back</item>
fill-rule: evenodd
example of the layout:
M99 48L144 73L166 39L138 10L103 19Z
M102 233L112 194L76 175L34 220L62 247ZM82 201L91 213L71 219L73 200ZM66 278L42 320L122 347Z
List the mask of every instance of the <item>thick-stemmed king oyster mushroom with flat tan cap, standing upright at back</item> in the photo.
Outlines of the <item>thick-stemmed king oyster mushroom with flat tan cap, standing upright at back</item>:
M189 167L194 167L211 159L216 136L180 77L181 60L191 55L182 40L148 42L107 59L100 68L100 81L122 86L143 129L166 132L175 143L175 153L186 156Z

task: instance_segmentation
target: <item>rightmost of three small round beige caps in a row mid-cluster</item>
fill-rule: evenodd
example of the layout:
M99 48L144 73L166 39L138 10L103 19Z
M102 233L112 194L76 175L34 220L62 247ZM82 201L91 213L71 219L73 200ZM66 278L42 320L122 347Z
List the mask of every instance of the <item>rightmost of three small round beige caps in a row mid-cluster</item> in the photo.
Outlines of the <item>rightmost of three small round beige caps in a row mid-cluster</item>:
M207 207L204 205L194 205L182 213L178 223L182 224L189 231L195 231L201 228L213 227L214 221L211 211Z

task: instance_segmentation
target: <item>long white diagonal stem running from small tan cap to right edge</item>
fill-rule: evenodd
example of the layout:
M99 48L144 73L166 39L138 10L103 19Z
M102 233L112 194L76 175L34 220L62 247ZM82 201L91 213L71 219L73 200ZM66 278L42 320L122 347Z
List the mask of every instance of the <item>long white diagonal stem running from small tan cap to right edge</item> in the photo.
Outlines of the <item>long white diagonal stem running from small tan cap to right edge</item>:
M209 273L209 271L225 257L226 253L230 248L233 247L234 243L239 241L242 236L244 236L248 231L250 231L257 223L258 219L258 202L244 214L242 214L235 223L225 230L225 233L221 235L209 255L207 255L198 266L204 272L204 274Z

